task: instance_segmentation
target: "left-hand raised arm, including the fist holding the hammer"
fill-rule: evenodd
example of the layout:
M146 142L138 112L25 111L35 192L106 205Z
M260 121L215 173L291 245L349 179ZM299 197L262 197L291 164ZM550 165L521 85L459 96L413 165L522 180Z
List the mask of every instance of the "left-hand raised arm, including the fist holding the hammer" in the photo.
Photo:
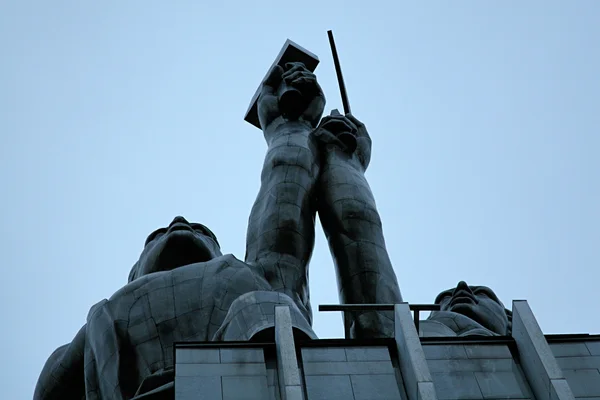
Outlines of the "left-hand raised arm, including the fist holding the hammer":
M297 118L284 116L278 88L301 91L305 105ZM261 186L248 222L246 262L262 269L274 290L286 293L310 322L307 266L314 246L317 146L310 135L323 113L325 97L316 77L300 63L275 67L265 81L258 114L268 145Z

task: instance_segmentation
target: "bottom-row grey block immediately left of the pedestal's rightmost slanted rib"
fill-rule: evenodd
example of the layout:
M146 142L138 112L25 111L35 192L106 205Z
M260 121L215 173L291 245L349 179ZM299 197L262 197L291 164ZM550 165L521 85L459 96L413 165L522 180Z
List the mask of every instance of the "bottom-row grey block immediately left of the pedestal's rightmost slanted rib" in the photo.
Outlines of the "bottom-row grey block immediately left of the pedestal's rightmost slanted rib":
M475 372L475 379L477 379L484 399L532 397L527 383L514 372Z

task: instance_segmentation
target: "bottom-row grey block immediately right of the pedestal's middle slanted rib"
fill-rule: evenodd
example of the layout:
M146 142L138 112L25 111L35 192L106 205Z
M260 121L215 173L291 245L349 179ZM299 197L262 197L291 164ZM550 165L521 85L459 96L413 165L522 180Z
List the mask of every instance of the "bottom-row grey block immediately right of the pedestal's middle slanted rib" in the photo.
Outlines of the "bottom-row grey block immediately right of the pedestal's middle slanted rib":
M473 372L432 373L440 400L483 399Z

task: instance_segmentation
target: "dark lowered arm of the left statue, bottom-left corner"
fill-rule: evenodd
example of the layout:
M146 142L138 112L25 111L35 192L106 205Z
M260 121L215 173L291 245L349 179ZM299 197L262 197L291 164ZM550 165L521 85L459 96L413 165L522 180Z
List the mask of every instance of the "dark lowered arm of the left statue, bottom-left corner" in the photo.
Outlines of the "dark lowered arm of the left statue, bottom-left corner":
M85 325L71 343L50 355L35 386L34 400L81 400L85 396L84 346Z

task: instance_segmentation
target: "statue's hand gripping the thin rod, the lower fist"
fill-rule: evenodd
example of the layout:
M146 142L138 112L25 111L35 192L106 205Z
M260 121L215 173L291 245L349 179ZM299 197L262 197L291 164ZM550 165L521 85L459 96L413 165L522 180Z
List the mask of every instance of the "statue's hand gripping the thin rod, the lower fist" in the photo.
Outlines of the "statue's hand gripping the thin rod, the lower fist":
M325 152L343 151L366 171L371 161L371 137L365 125L352 114L332 111L321 120L314 136Z

